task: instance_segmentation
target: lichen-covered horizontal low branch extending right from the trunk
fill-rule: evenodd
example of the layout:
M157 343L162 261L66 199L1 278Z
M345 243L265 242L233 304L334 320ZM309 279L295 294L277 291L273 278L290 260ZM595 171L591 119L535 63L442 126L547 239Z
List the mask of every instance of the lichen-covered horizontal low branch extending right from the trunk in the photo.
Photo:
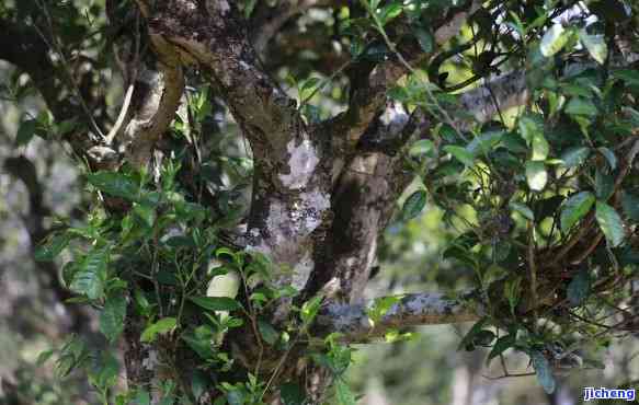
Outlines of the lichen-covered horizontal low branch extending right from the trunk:
M377 322L369 316L369 309L374 305L375 301L367 305L334 301L324 303L317 317L318 334L336 332L343 334L345 342L366 343L391 329L470 322L483 315L483 310L473 300L472 292L457 297L437 292L406 294L398 298L398 302Z

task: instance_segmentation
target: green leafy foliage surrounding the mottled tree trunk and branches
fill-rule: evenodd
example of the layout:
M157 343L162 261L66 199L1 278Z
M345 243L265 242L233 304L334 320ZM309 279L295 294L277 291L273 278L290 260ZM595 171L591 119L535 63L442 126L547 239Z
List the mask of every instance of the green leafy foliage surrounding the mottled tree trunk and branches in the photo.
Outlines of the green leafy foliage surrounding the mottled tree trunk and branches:
M353 14L341 7L331 24L347 45L345 63L322 77L295 78L294 69L282 76L288 73L288 90L298 97L305 124L311 125L333 113L317 103L318 94L333 104L345 102L346 92L335 89L353 65L392 60L407 71L387 95L432 125L400 151L403 171L418 186L403 198L392 224L419 218L429 205L441 209L443 221L459 231L443 258L470 280L476 304L483 309L459 348L488 347L488 363L509 349L525 354L539 384L551 393L557 369L595 367L597 350L635 322L636 314L624 309L631 304L639 257L639 74L615 58L616 18L611 13L621 12L623 23L632 26L637 10L602 7L619 3L607 0L582 7L572 1L492 1L434 58L402 54L409 43L432 56L438 46L436 28L446 22L440 16L453 15L459 3L469 5L362 0ZM100 132L93 115L100 108L106 114L106 107L90 111L84 105L67 58L85 50L101 55L121 39L105 32L103 12L81 2L7 4L0 9L3 16L30 15L31 25L52 31L47 45L70 77L62 93L77 96L88 113L59 121L53 113L25 114L16 148L34 137L50 141L80 129ZM26 4L39 7L42 15ZM244 20L258 19L259 7L258 1L241 2ZM124 15L135 7L123 2L116 9L115 14ZM82 18L82 10L95 19ZM96 35L90 32L92 24L100 25ZM91 61L90 74L99 77L114 65L112 56ZM483 83L494 99L491 76L511 71L526 73L524 105L509 111L495 105L487 123L459 111L456 91ZM105 404L113 398L148 403L151 393L145 387L117 390L116 345L135 314L144 321L139 344L164 349L157 359L169 370L159 387L164 403L178 396L197 403L216 392L215 404L265 404L281 392L285 404L304 404L306 387L297 382L272 386L287 357L301 351L305 361L329 371L338 403L355 404L344 380L352 348L339 335L313 335L323 294L301 297L275 282L273 275L285 269L258 250L233 243L233 230L247 217L253 167L263 169L253 153L264 152L249 153L237 124L219 124L228 119L219 118L226 111L204 84L207 73L190 73L187 102L169 130L163 158L152 170L87 165L83 180L94 200L85 221L59 221L35 253L42 262L70 257L61 270L65 287L76 293L70 301L100 312L99 328L110 345L92 351L70 336L55 350L56 371L66 378L84 370ZM349 79L354 82L355 76ZM452 83L455 76L465 79ZM35 86L19 79L7 89L16 99L27 92L25 86ZM208 132L217 135L214 140L205 139ZM241 279L238 297L207 297L212 279L231 271ZM282 302L289 304L290 314L273 322ZM397 303L396 298L375 301L367 312L370 321L378 322ZM226 336L254 339L255 352L240 358ZM387 340L407 336L393 329ZM43 356L43 362L53 354ZM173 372L185 358L193 364L191 386ZM504 375L511 373L504 369Z

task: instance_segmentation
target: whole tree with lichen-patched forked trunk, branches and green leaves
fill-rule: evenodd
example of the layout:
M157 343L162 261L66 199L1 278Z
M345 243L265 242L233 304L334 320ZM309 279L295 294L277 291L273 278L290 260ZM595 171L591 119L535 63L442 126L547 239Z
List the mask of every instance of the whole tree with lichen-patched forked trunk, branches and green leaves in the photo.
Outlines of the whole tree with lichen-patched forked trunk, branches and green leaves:
M347 344L466 321L461 347L526 354L548 392L597 367L593 347L637 329L637 12L4 2L4 91L46 103L15 142L68 144L94 196L82 224L44 229L31 162L5 162L33 197L36 258L112 345L72 336L58 371L85 368L109 403L122 340L117 403L321 403L334 385L353 404ZM365 304L383 231L426 199L460 229L444 259L469 289Z

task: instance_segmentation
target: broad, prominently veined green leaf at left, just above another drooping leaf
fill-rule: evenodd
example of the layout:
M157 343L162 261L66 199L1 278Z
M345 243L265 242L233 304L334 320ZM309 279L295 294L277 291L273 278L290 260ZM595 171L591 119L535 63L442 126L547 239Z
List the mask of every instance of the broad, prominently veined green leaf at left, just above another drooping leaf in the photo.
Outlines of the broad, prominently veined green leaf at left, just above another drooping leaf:
M79 263L69 289L91 300L102 298L106 284L106 251L92 251Z

